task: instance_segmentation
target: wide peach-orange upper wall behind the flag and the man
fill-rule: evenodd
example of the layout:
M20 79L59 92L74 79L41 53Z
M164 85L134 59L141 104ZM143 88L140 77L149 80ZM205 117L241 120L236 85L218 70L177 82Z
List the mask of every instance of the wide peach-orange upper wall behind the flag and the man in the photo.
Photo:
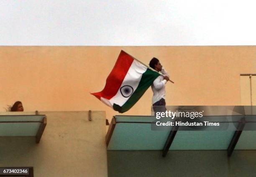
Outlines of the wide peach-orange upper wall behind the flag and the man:
M101 91L120 50L148 64L160 59L174 84L167 105L241 105L241 73L256 72L256 46L21 46L0 47L0 110L14 101L25 111L106 111ZM149 115L152 91L126 115Z

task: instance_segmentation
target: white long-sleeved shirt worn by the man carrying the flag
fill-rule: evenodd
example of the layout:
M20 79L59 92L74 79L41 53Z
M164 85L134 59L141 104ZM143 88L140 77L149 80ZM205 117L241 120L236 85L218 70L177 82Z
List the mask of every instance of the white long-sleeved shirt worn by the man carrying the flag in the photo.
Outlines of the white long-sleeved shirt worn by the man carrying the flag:
M160 72L164 76L169 77L169 74L164 70L164 67L162 67ZM158 76L151 85L153 91L152 104L156 103L162 98L165 99L165 84L167 81L164 79L164 76Z

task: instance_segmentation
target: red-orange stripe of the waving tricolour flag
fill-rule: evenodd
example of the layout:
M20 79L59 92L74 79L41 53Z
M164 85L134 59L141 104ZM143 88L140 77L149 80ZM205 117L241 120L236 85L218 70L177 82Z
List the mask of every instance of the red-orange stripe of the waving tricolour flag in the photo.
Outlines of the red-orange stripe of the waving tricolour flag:
M105 99L111 99L113 96L117 94L121 84L123 83L123 79L125 78L131 64L133 63L133 58L121 51L117 61L115 62L115 66L110 72L104 89L97 93L92 93L92 95L96 96L98 99L103 97Z

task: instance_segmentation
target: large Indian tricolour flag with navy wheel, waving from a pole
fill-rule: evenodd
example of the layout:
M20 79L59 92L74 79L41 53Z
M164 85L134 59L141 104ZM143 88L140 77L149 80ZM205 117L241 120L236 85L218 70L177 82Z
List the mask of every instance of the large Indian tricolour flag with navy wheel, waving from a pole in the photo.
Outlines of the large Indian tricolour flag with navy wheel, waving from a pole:
M131 109L158 76L158 72L121 51L105 88L92 95L123 113Z

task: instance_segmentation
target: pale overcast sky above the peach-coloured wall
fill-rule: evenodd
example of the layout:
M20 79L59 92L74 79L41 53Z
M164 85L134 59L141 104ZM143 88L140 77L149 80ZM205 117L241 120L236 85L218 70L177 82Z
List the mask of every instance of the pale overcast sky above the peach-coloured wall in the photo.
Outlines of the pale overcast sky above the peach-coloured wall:
M0 0L0 45L256 45L254 0Z

